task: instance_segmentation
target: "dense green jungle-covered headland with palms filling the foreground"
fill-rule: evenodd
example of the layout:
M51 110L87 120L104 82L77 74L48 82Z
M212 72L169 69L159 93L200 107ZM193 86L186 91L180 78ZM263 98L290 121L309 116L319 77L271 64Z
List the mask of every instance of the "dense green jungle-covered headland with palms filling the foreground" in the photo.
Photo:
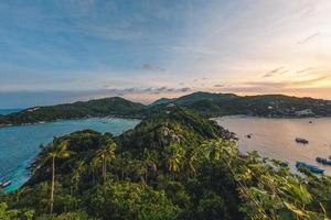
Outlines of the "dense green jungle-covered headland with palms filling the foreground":
M55 138L31 179L0 196L0 219L328 219L331 178L300 176L190 110L170 108L120 136Z

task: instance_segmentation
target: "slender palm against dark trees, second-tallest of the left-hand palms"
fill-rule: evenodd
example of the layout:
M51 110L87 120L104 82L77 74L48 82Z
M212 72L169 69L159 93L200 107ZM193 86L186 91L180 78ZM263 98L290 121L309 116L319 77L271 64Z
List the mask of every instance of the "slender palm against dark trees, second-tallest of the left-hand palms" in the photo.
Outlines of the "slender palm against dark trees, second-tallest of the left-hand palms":
M107 177L107 162L116 158L115 150L116 150L116 143L111 139L109 139L106 141L105 146L97 152L97 157L99 157L103 163L104 182L106 182L106 177Z

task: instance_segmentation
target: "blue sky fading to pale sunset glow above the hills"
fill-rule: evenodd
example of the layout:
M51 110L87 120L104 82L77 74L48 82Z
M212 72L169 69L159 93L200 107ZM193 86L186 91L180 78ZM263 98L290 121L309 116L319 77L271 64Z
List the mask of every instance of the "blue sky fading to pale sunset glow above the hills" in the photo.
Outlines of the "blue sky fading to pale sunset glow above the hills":
M0 1L0 108L194 91L331 99L330 0Z

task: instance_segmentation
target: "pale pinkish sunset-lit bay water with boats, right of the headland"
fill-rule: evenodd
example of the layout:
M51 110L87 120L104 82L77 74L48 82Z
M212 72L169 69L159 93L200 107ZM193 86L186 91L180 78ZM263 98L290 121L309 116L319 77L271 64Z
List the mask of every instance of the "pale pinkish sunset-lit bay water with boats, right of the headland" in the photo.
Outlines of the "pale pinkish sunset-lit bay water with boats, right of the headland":
M331 156L331 118L269 119L233 116L215 120L237 135L238 147L243 153L257 151L263 157L289 163L293 172L296 162L306 162L331 175L331 166L316 162L316 157ZM297 143L297 138L306 139L309 143Z

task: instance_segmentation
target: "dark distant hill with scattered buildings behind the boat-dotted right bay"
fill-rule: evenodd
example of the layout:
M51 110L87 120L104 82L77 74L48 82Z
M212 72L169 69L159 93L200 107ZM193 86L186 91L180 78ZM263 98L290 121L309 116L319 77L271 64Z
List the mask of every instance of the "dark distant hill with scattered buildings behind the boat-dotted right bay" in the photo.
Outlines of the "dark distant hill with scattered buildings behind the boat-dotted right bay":
M173 99L171 103L199 111L207 117L232 114L271 118L331 116L331 101L284 95L241 97L233 94L195 92Z

